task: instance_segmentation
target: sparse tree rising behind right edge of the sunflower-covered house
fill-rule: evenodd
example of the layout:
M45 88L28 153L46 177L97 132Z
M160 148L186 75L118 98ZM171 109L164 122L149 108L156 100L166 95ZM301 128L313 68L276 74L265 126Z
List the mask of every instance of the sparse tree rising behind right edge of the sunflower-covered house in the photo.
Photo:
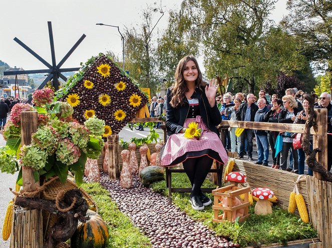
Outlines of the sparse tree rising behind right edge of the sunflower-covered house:
M155 14L159 17L155 17ZM153 32L163 17L161 7L148 7L142 12L143 23L126 28L125 30L125 64L132 78L136 79L141 87L150 88L155 93L158 83ZM157 20L155 20L157 18Z

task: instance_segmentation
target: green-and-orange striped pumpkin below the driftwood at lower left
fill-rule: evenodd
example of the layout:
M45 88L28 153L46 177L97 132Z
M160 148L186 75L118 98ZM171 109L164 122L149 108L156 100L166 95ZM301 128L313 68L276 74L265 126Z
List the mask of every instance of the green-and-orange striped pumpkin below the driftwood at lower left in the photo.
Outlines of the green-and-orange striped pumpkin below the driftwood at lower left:
M106 223L96 212L87 211L86 223L79 222L71 238L71 248L106 248L109 233Z

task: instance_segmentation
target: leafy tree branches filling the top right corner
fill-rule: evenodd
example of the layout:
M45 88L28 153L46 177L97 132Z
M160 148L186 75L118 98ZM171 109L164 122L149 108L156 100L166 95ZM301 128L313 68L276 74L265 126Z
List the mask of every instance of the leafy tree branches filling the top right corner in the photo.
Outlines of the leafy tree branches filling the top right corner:
M288 0L289 14L281 24L301 39L299 47L316 70L332 73L332 2L330 0ZM332 77L329 76L330 87ZM331 91L332 92L332 91Z

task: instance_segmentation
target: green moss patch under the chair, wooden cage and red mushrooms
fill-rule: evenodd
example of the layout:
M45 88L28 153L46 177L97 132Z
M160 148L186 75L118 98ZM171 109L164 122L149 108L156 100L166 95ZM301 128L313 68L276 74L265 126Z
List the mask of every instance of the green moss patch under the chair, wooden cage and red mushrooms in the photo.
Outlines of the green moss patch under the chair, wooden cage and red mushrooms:
M190 187L190 182L184 173L172 174L173 187ZM209 180L205 180L203 188L215 187ZM154 191L168 196L166 182L153 183L151 188ZM213 202L211 194L207 194ZM192 209L189 201L189 193L173 193L172 202L175 206L185 211L188 216L207 225L219 236L227 236L233 242L239 243L241 247L268 245L271 243L283 243L298 239L316 238L317 232L311 224L305 224L295 215L278 207L273 207L271 215L257 216L254 214L254 205L250 206L250 217L244 222L232 224L230 222L213 223L212 205L205 207L203 211Z

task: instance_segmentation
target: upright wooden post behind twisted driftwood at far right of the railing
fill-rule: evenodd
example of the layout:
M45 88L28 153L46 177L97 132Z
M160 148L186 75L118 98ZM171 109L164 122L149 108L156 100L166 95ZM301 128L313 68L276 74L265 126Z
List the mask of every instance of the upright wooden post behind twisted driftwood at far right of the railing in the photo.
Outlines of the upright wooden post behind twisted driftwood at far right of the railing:
M313 135L313 149L319 148L321 152L316 154L316 160L327 170L327 109L317 108L315 122L319 127L321 126L321 135ZM321 175L318 172L313 172L313 176L321 180Z

